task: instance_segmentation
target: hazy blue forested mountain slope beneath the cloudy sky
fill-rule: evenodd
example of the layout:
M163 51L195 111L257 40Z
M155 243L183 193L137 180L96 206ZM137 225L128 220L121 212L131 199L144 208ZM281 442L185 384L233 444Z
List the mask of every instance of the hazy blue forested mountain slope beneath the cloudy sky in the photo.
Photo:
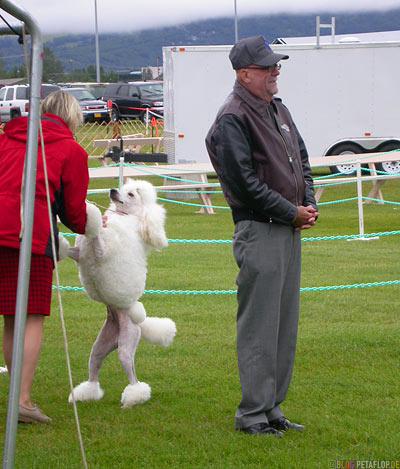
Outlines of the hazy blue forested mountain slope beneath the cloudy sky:
M315 35L315 14L270 15L241 18L239 37L263 34L268 41L276 37ZM337 34L354 34L400 29L400 8L386 12L321 15L321 21L336 17ZM326 32L325 34L328 34ZM233 18L210 19L176 27L144 30L135 33L99 35L100 64L109 70L134 70L162 64L162 47L169 45L232 44ZM61 61L65 71L95 64L94 34L51 36L45 45ZM23 46L15 37L0 37L2 68L23 63Z

